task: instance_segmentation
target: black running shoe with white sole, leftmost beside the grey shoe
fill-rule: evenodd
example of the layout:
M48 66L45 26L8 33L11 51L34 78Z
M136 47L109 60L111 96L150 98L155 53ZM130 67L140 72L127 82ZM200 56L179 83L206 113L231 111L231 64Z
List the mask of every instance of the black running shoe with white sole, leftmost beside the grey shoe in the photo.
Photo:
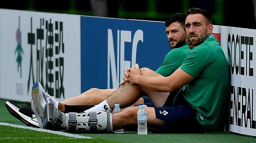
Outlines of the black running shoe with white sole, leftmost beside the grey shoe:
M31 104L18 106L12 101L6 101L5 106L11 115L19 119L27 126L40 128L37 118L32 112Z

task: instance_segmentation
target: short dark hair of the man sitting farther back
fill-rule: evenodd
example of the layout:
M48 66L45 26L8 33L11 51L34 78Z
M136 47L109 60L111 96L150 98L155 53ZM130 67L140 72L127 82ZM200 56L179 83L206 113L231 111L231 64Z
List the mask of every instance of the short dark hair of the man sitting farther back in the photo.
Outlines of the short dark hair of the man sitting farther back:
M173 22L179 22L182 27L185 27L186 14L184 13L175 13L171 15L166 21L165 26L168 27Z

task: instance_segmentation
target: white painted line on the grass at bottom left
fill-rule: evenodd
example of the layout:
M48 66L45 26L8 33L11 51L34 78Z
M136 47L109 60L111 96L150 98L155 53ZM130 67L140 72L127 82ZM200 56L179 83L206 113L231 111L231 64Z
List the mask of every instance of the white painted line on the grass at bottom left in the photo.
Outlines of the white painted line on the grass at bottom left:
M62 135L62 136L72 137L72 138L92 139L91 137L80 136L80 135L71 134L71 133L67 133L67 132L51 131L51 130L46 130L46 129L41 129L41 128L28 127L28 126L24 126L24 125L15 125L15 124L10 124L10 123L3 123L3 122L0 122L0 125L12 126L15 128L22 128L22 129L29 129L29 130L34 130L34 131L49 132L52 134L57 134L57 135Z

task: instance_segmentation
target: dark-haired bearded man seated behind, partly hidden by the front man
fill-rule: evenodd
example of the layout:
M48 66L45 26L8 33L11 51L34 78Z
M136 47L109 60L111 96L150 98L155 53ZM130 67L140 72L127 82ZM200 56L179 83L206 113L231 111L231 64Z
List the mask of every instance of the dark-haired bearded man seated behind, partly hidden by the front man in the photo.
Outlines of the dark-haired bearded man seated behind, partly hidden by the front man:
M170 46L172 47L172 50L170 52L167 53L167 55L165 56L162 65L155 71L152 71L149 68L141 68L141 73L144 76L169 76L171 75L177 68L179 68L182 63L184 62L185 58L187 57L187 54L190 52L190 49L188 48L188 44L186 44L186 37L185 37L185 14L183 13L175 13L173 15L170 16L169 19L166 20L165 26L166 26L166 34L167 34L167 38L169 41ZM128 68L129 70L129 68ZM120 83L120 85L125 84L126 81ZM42 88L42 86L40 85L40 83L36 83L40 86L40 88ZM126 85L125 85L126 86ZM42 88L43 90L43 88ZM155 92L153 91L149 91L146 89L141 90L139 88L133 88L130 89L132 92L136 92L137 94L143 95L143 92L145 92L146 94L153 94ZM58 107L58 109L62 112L65 113L69 113L69 112L82 112L85 109L88 109L88 106L84 106L84 105L94 105L94 104L98 104L101 101L103 101L104 99L107 99L114 91L117 91L117 89L106 89L106 90L102 90L102 89L97 89L97 88L93 88L90 89L88 91L85 91L84 93L82 93L81 95L75 96L73 98L70 99L66 99L62 102L58 102L56 100L55 101L55 106ZM177 93L180 93L179 91L182 90L177 90L174 91L173 94L177 95ZM43 92L47 97L47 93ZM156 94L159 94L156 92ZM169 93L164 93L165 95L162 96L162 98L158 98L157 100L159 100L159 102L165 103L166 98L168 97ZM49 96L50 97L50 96ZM168 100L168 102L171 102L171 104L173 104L173 98L174 96L170 97L171 99ZM138 100L137 100L138 99ZM143 104L143 103L147 103L147 106L163 106L158 104L157 102L151 102L150 99L148 97L143 97L143 98L136 98L136 102L135 103L129 103L129 104L120 104L120 106L123 107L128 107L132 104ZM155 101L156 99L153 99L153 101ZM178 98L176 98L176 102L180 102L178 100ZM166 104L170 104L167 103ZM13 111L14 109L12 107L14 107L14 103L10 103L9 101L6 101L6 107L8 110L12 111L10 113L18 113L21 114L20 112L24 111L24 107L19 107L20 110L18 111ZM80 106L81 105L81 106ZM44 104L42 105L42 108L44 107ZM90 106L89 106L90 107ZM109 107L108 107L109 108ZM106 109L106 108L104 108ZM26 112L29 114L31 113L31 108L30 109L26 109ZM25 113L23 113L25 114ZM17 115L17 114L15 114ZM24 115L22 115L24 116ZM20 116L15 116L18 119L21 119ZM42 123L39 122L39 124L32 123L31 120L28 120L29 117L27 118L22 118L21 121L26 120L27 125L29 126L38 126L38 127L42 127ZM42 120L42 115L41 118L38 118L38 120Z

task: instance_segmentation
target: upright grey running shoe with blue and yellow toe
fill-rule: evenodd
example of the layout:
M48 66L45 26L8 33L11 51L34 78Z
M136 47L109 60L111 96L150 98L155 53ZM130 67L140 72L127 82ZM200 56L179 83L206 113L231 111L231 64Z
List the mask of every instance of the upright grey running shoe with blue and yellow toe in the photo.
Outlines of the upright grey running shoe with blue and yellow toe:
M33 84L32 91L31 91L32 101L31 101L31 108L33 113L36 115L38 120L38 124L40 128L43 128L43 108L47 102L58 102L48 93L43 90L43 86L36 82Z

